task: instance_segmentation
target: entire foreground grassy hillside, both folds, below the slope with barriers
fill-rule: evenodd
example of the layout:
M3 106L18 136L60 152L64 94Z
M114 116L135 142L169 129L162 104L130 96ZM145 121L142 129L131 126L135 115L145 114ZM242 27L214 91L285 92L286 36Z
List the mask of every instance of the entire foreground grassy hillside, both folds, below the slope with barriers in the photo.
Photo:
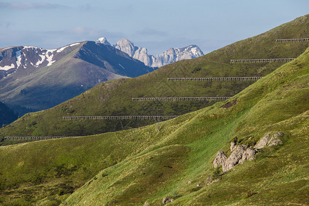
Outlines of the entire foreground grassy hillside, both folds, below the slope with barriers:
M168 198L169 205L306 205L308 68L309 49L230 100L162 122L160 131L154 124L3 146L0 201L159 205ZM231 141L254 146L278 131L285 134L283 144L258 150L255 160L229 172L212 168L218 150L229 150Z

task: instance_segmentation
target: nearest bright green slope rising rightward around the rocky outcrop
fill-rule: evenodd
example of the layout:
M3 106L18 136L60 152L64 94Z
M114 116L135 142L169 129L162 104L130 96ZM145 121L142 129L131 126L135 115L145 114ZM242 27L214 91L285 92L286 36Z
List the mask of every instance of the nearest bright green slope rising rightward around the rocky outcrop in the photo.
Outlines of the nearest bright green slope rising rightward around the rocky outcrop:
M229 100L236 105L222 108L220 102L198 111L159 144L102 170L64 205L159 204L163 197L174 198L171 205L306 205L308 84L309 49ZM283 146L264 148L207 185L211 161L233 138L252 145L276 131L286 133Z

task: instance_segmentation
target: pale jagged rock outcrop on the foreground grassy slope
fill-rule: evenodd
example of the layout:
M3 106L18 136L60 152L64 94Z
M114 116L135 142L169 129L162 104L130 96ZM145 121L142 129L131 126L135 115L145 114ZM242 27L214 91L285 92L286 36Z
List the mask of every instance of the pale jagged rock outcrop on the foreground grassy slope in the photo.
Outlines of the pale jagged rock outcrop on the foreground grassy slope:
M258 149L264 148L265 146L274 146L277 144L282 144L281 139L279 137L282 137L284 133L277 132L273 136L271 136L271 133L268 133L260 141L258 141L258 144L255 145L254 148L249 148L247 145L238 145L236 146L236 142L231 142L231 155L229 157L225 156L225 153L220 150L215 159L214 159L214 168L222 165L223 172L227 172L231 170L231 168L235 167L238 164L244 163L246 160L253 160L255 157L255 154L258 152Z

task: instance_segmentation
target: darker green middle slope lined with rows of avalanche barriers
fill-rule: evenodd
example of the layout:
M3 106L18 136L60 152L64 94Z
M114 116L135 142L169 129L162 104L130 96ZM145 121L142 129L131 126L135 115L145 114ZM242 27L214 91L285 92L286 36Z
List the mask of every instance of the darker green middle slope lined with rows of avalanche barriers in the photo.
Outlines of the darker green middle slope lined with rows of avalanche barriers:
M295 58L308 47L304 43L276 43L276 38L308 36L309 15L273 30L239 41L193 60L182 60L132 79L103 82L89 91L47 111L30 113L0 130L2 135L93 135L144 126L154 121L62 122L68 115L181 115L213 102L133 102L138 97L232 96L252 82L168 82L174 77L265 76L281 62L234 64L230 59ZM32 126L32 123L36 123Z

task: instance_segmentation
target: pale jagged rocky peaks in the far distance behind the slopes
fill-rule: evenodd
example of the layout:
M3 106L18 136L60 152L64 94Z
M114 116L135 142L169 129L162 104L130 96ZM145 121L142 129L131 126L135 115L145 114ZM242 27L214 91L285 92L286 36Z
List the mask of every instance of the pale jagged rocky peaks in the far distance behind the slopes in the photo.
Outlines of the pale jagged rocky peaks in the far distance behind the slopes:
M106 39L105 38L102 39L104 39L104 43L106 43ZM125 52L130 57L136 58L137 60L144 62L144 64L149 67L162 67L172 62L177 62L179 60L184 59L197 58L199 56L204 55L202 50L198 46L190 45L180 49L170 48L165 52L163 52L162 54L153 56L148 54L146 48L136 47L132 42L130 42L126 38L119 40L116 43L115 48L121 50L122 52Z

